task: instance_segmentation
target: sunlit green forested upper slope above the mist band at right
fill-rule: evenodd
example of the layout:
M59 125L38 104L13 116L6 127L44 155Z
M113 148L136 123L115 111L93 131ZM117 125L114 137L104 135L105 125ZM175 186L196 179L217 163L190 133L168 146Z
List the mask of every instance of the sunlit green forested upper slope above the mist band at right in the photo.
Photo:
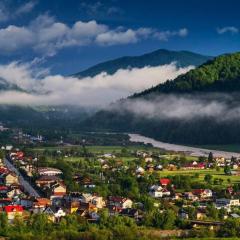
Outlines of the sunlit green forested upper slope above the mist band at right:
M209 60L172 81L135 94L135 97L153 93L236 90L240 90L240 53L226 54Z

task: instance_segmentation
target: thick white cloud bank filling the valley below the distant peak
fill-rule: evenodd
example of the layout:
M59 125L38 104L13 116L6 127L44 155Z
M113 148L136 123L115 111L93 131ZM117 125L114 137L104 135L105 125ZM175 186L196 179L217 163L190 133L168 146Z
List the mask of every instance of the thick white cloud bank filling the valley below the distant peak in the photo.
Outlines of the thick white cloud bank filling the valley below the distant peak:
M135 92L173 79L192 67L177 68L174 63L159 67L118 70L81 80L61 75L48 75L33 64L13 62L0 65L0 79L17 85L24 92L0 92L0 104L104 106Z

